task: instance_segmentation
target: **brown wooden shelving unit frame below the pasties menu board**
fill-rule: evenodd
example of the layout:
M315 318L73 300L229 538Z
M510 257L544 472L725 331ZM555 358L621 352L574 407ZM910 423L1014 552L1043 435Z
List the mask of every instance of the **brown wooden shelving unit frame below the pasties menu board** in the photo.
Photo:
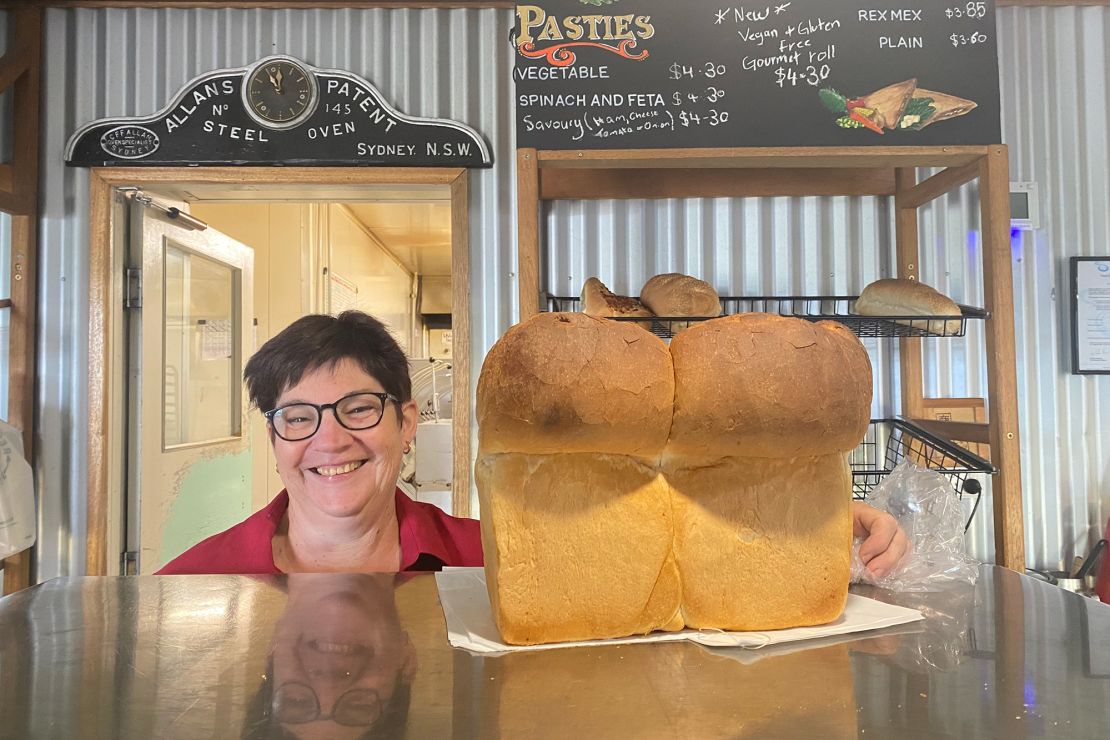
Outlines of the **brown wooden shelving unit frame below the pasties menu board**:
M944 168L918 181L918 168ZM996 561L1025 569L1018 439L1009 164L1003 145L544 151L519 149L517 250L521 320L543 310L539 205L546 200L890 195L898 276L918 276L918 209L979 180L989 424L961 436L990 444ZM902 413L924 416L920 338L900 338ZM951 432L956 432L952 427Z

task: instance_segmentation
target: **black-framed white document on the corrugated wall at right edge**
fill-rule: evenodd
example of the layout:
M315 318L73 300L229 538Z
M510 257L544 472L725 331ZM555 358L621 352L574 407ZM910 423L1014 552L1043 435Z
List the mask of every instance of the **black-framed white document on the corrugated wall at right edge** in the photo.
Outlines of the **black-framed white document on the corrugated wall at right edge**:
M1110 375L1110 256L1070 262L1071 372Z

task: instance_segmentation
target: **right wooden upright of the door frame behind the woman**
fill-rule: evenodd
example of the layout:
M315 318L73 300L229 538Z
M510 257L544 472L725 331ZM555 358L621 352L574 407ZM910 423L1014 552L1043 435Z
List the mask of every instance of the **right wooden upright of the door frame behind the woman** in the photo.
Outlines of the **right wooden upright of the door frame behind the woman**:
M451 184L452 514L471 516L471 240L470 171Z

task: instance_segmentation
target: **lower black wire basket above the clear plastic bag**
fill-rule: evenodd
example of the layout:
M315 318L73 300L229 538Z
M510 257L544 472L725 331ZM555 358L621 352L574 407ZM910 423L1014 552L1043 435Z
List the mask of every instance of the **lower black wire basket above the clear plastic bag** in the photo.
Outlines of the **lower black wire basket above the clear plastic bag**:
M982 483L972 476L993 475L998 469L972 452L906 419L871 419L864 442L848 455L852 497L866 499L884 476L906 459L948 476L961 500L975 499L963 528L970 527L982 493Z

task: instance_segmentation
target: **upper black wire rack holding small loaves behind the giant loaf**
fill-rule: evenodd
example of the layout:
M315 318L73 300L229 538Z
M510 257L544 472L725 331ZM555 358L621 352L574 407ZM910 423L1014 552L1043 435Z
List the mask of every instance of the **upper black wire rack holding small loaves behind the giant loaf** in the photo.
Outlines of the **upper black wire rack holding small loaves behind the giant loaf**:
M982 308L960 306L961 315L956 316L859 316L852 313L855 295L781 295L720 298L722 315L741 313L768 313L793 316L807 321L835 321L850 328L859 337L884 336L963 336L968 320L989 318ZM548 311L578 311L577 296L547 296ZM654 316L652 333L664 339L672 338L690 322L707 321L716 316ZM614 321L644 323L644 316L619 316Z

